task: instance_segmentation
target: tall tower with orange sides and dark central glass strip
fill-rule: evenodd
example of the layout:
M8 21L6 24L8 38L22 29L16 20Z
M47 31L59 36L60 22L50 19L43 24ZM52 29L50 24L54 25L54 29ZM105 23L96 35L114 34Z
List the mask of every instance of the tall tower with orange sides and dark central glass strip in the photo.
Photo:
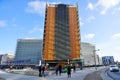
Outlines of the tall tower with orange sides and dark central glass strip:
M45 61L80 58L78 17L77 5L46 5L43 39Z

